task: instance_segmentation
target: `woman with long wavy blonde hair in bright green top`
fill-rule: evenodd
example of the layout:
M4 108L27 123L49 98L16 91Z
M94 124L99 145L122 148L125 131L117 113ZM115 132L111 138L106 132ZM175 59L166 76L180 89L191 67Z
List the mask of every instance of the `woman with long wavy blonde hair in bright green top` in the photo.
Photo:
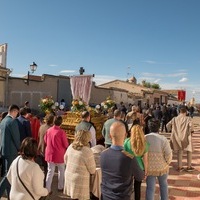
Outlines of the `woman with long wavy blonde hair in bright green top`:
M124 150L136 157L140 168L145 172L145 176L147 176L148 146L142 126L133 125L130 138L124 142ZM141 181L134 180L135 200L140 200L141 183Z

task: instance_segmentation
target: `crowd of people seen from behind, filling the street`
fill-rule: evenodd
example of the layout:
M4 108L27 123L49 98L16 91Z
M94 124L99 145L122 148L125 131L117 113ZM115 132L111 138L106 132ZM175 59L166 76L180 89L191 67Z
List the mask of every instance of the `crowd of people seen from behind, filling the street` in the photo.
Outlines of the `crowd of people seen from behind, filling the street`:
M153 200L156 179L161 199L167 200L172 153L177 154L177 171L194 170L193 112L185 105L126 108L121 102L109 112L102 128L104 144L98 144L96 127L90 113L84 111L69 144L61 128L62 116L48 114L41 122L32 116L27 102L22 108L11 105L8 112L1 114L0 198L4 192L10 200L50 196L57 167L57 189L72 199L91 198L91 175L100 168L98 198L102 200L140 200L142 181L146 182L146 199ZM170 142L160 131L171 133ZM184 151L186 168L182 166Z

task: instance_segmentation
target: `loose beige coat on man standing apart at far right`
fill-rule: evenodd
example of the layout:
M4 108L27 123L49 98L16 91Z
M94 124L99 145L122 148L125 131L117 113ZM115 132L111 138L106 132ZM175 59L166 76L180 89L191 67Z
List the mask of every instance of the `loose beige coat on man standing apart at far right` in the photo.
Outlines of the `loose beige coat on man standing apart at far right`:
M174 151L193 151L192 132L193 123L191 117L179 114L167 124L167 129L171 130L171 144Z

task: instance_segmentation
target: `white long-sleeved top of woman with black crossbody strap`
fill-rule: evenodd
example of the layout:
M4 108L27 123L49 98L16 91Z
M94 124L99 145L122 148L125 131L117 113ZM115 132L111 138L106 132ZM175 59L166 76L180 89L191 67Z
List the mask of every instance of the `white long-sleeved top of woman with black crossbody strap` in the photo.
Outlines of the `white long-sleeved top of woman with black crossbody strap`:
M17 160L19 157L21 156L18 156L12 162L7 173L7 179L11 184L10 200L33 200L17 176ZM43 187L44 173L37 163L20 158L18 169L21 180L35 200L48 194L48 190Z

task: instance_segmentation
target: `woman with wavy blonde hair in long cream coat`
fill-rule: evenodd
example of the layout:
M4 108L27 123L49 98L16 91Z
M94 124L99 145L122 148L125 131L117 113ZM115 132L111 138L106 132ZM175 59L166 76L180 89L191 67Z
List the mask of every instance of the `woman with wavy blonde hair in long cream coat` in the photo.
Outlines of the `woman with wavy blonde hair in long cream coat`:
M72 199L90 199L90 175L96 170L94 155L89 145L90 140L89 131L79 130L64 155L66 164L64 194Z

